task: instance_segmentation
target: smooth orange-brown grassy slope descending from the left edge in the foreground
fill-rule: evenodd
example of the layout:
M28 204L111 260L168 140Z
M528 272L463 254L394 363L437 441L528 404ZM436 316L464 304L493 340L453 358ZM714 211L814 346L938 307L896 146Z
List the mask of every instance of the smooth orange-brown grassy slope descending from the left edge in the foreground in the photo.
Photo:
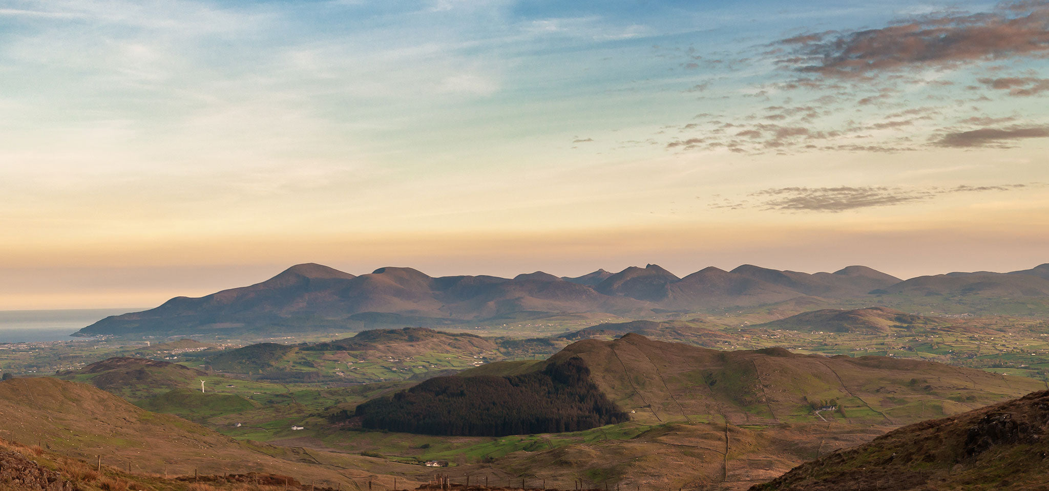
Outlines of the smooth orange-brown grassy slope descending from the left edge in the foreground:
M0 382L0 437L64 455L152 473L271 472L348 483L374 468L366 457L238 442L109 392L50 378ZM412 470L383 463L383 473Z

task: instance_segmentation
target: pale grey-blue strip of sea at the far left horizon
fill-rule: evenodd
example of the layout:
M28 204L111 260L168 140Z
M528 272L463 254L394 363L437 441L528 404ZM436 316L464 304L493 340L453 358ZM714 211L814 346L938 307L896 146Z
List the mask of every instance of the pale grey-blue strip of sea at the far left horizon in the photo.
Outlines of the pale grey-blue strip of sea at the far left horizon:
M0 343L71 341L69 335L109 316L143 308L0 311Z

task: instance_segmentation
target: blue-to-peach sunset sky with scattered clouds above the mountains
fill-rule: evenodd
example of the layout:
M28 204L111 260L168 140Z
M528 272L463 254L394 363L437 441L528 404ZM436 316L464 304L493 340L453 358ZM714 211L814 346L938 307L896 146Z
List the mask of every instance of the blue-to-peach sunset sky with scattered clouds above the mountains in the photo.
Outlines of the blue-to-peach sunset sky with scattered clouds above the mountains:
M1049 1L0 0L0 309L1049 262Z

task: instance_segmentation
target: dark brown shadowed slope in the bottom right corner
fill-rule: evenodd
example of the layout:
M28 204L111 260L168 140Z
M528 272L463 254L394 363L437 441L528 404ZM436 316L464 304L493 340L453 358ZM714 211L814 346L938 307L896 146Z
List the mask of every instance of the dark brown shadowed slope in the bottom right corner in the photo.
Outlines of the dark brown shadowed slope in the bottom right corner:
M1045 490L1049 391L925 421L802 464L753 491Z

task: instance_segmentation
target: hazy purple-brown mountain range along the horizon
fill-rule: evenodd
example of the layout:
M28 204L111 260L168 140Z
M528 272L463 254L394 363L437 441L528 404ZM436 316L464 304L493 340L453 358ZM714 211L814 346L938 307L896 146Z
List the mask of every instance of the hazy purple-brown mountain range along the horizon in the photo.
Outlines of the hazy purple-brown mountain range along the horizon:
M1011 273L950 273L900 280L866 266L799 273L745 264L678 277L657 264L580 277L543 272L514 278L430 277L411 268L355 276L305 263L250 286L200 298L175 297L148 311L100 320L78 335L350 329L377 325L449 325L574 313L645 318L799 299L965 305L978 299L1049 297L1049 264ZM917 299L917 300L916 300ZM1041 304L1039 304L1041 305Z

